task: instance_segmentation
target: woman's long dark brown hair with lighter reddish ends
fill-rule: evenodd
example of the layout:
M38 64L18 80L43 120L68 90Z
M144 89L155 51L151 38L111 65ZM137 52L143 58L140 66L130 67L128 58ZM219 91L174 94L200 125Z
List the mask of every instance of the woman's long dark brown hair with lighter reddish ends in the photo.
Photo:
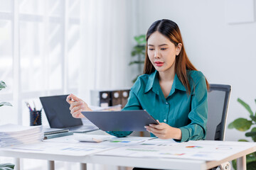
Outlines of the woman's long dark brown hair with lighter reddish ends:
M189 84L187 70L196 70L196 67L193 66L191 61L188 59L188 56L186 55L186 51L183 45L183 40L181 38L181 31L178 28L178 25L174 23L174 21L163 19L159 21L155 21L152 23L152 25L149 27L149 30L146 33L146 56L145 56L145 63L144 63L144 74L151 74L155 71L155 68L153 64L151 64L149 60L149 55L147 53L148 47L147 47L147 41L149 40L149 37L152 33L158 31L162 35L166 36L166 38L169 38L171 42L174 43L175 47L178 46L178 43L182 44L181 52L176 56L176 62L175 62L175 73L178 76L178 79L181 81L183 86L186 87L186 90L188 94L191 93L191 86ZM209 89L209 84L206 79L206 86L207 89Z

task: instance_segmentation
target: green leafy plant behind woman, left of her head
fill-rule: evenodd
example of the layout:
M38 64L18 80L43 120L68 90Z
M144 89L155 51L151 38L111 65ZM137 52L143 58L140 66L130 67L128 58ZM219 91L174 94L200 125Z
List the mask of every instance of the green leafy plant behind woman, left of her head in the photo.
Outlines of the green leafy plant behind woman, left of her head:
M137 58L129 62L129 65L138 64L139 73L142 74L142 64L144 64L146 52L146 35L135 36L134 40L137 42L137 45L132 48L131 55ZM139 75L137 75L137 77L139 77ZM135 82L137 77L134 78L132 82Z

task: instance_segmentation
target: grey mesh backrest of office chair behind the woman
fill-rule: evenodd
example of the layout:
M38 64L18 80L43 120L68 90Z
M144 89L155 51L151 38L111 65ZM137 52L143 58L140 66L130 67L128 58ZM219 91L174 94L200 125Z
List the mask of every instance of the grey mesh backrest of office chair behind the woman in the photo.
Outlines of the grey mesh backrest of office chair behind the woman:
M224 140L230 85L210 84L206 140Z

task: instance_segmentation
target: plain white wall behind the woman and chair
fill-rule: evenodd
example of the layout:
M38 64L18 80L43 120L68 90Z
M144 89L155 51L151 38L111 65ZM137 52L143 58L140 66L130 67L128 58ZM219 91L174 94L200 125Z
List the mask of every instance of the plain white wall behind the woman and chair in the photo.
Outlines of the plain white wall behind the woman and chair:
M156 20L175 21L181 29L188 57L209 83L232 85L227 125L235 118L249 115L238 103L238 97L256 111L255 21L227 23L225 1L221 0L139 0L138 6L139 33L146 33ZM226 130L225 140L240 138L245 138L243 132Z

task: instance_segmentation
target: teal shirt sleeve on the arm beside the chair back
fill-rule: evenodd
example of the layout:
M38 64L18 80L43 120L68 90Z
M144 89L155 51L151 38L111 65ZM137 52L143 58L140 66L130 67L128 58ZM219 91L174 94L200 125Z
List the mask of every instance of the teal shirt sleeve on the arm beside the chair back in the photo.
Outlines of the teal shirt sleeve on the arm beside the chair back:
M199 79L192 93L191 111L188 113L191 123L180 128L181 142L203 140L206 138L208 101L206 79L204 76Z

